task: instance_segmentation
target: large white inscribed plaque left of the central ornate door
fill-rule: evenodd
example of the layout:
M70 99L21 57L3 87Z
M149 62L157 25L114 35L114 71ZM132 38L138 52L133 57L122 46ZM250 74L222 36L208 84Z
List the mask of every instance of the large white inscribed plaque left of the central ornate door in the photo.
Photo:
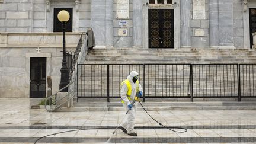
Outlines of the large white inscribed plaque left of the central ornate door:
M116 18L129 19L129 0L117 0L116 12Z

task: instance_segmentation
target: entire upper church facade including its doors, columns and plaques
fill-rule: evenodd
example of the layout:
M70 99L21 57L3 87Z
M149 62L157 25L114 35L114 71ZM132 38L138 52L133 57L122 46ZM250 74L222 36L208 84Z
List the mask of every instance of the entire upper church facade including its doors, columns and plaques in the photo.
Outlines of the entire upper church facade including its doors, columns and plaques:
M0 31L60 31L56 14L66 9L69 31L91 27L99 47L249 48L255 6L254 0L2 0Z

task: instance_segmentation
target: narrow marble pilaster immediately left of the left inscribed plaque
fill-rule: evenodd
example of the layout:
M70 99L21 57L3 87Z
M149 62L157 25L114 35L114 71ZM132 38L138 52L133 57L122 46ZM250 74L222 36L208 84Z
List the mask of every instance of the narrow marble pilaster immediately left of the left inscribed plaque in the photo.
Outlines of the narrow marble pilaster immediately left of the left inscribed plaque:
M113 0L107 0L105 4L105 46L113 47L114 32L113 32Z

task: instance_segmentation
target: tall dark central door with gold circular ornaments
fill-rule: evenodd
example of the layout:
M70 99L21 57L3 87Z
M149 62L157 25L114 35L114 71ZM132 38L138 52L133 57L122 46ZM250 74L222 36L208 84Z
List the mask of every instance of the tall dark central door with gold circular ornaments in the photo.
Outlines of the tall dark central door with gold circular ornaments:
M174 9L149 9L149 48L174 48Z

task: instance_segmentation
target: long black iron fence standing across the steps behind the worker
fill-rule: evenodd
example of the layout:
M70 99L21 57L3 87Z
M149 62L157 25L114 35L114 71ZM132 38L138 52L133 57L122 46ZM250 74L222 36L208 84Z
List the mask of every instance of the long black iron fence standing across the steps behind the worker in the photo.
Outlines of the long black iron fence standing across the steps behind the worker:
M120 83L140 74L146 98L256 97L254 64L79 64L78 98L120 98Z

